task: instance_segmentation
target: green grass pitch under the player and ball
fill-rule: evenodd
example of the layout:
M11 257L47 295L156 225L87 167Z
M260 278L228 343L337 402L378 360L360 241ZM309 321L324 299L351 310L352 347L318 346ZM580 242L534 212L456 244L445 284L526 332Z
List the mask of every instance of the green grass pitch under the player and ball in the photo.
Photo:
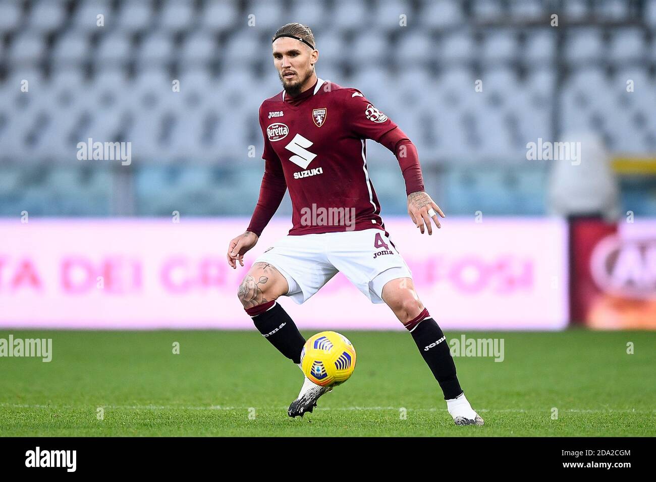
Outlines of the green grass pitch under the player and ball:
M302 375L254 331L5 329L0 338L10 333L52 338L52 361L0 358L3 436L656 435L653 332L467 332L504 339L501 363L455 358L483 427L453 425L407 332L344 331L358 352L354 375L295 419L287 407Z

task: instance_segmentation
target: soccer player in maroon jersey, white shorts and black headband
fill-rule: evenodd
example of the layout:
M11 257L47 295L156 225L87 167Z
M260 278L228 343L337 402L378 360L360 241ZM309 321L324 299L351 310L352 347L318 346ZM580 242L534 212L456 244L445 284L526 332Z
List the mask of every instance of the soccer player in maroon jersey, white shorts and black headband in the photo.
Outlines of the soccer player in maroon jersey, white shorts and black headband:
M415 226L429 235L431 220L440 228L438 214L444 214L424 192L414 144L358 89L317 77L319 52L310 28L287 24L276 31L272 47L283 90L260 106L265 161L260 197L247 231L230 241L228 263L244 266L245 252L255 246L287 189L293 228L255 260L239 285L239 300L258 331L300 367L305 339L276 300L289 296L302 304L342 271L371 302L386 303L410 332L455 424L483 425L462 392L443 332L419 300L412 273L385 230L369 180L366 138L397 157ZM289 416L312 412L330 390L306 377Z

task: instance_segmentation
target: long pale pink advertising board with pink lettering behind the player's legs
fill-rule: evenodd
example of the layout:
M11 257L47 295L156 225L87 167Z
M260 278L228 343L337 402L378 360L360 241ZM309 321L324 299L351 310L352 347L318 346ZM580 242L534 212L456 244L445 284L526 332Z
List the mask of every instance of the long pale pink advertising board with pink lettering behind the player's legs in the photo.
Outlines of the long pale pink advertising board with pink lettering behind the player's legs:
M254 329L237 286L287 234L273 221L245 267L226 262L244 218L0 220L0 327ZM567 324L567 229L546 218L447 218L421 235L385 226L419 296L445 329L558 330ZM403 329L338 273L302 305L279 302L300 329Z

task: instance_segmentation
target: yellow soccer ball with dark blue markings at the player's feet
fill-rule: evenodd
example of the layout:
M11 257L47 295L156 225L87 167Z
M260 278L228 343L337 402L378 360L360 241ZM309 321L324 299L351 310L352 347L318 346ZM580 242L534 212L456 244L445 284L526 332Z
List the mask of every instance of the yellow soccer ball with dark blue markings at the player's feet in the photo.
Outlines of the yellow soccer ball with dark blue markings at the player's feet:
M305 342L300 365L312 382L325 387L339 385L356 368L356 349L343 334L322 331Z

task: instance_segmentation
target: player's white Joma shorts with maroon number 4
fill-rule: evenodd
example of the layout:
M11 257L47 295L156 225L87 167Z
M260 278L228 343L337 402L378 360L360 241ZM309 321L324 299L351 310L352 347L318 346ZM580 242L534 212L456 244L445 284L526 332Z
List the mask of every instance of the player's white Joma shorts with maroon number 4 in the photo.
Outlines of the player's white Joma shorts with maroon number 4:
M375 228L287 235L255 262L269 263L287 279L287 295L302 304L341 271L372 303L382 303L385 283L412 272L389 235Z

